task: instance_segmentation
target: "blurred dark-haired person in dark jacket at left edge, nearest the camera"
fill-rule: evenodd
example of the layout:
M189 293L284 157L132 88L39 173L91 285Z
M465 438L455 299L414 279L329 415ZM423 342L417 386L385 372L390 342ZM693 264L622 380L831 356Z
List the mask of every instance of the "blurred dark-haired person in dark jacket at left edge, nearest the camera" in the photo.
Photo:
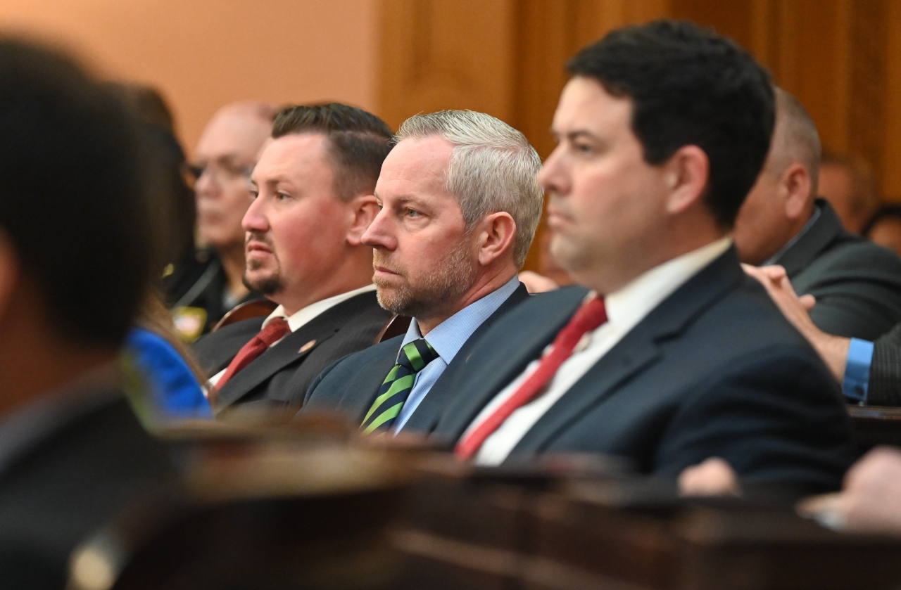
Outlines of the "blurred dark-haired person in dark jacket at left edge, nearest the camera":
M116 360L150 275L139 132L59 55L0 41L0 580L68 555L175 476Z

